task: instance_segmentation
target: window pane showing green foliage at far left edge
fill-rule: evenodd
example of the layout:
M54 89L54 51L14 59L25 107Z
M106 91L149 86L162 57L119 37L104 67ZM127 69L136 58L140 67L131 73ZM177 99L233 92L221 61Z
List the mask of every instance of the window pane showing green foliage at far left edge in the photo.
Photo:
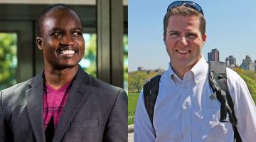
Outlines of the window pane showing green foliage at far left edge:
M17 34L0 33L0 90L17 83Z

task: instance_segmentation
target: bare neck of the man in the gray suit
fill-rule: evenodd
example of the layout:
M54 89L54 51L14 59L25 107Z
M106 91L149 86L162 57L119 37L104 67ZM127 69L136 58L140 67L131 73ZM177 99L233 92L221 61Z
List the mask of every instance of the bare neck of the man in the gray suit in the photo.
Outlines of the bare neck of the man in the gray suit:
M55 70L52 67L46 67L44 75L46 82L54 89L60 89L68 82L71 82L78 72L79 66L65 68L63 70Z

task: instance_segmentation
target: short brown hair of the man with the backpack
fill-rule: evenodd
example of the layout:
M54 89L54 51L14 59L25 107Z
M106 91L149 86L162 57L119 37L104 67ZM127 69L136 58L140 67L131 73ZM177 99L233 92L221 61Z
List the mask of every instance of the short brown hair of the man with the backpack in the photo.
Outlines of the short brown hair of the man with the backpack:
M174 15L181 16L196 16L200 20L200 31L202 36L206 33L206 19L202 13L196 11L195 9L187 6L176 6L173 9L170 9L164 16L164 40L166 38L166 26L168 25L169 18Z

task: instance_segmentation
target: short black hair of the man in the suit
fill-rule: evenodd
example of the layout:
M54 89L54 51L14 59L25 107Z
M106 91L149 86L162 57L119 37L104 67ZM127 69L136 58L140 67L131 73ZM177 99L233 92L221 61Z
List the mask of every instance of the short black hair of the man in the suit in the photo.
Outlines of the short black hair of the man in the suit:
M44 11L42 11L39 15L38 18L38 23L36 26L36 31L37 31L37 36L41 37L43 35L43 21L44 18L46 17L47 13L51 12L51 11L58 11L58 10L68 10L68 11L74 11L74 9L72 9L70 6L67 6L65 4L54 4L53 6L49 6L48 8L46 8ZM77 15L78 13L75 12ZM78 15L80 22L82 23L82 20L80 18L80 16Z

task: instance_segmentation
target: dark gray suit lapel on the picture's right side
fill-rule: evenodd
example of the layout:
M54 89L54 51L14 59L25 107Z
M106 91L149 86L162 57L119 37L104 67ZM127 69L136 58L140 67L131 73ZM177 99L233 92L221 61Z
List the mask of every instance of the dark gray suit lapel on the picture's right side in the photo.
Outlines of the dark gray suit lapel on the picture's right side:
M68 99L65 103L65 107L58 122L57 130L55 131L55 136L53 142L60 141L63 137L65 131L67 131L70 126L70 122L73 116L77 113L80 105L84 100L90 96L90 76L87 75L82 68L78 70L78 74L73 80L70 91L68 92Z

